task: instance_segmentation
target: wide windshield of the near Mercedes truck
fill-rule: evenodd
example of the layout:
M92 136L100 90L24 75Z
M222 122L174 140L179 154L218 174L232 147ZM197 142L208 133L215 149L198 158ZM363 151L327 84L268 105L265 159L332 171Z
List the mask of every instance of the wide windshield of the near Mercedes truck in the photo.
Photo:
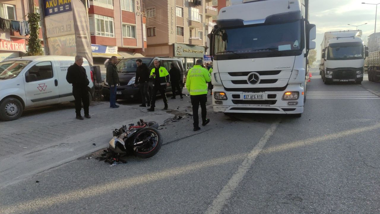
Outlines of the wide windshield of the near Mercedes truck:
M271 25L229 27L221 29L214 38L215 56L268 54L302 49L300 20Z

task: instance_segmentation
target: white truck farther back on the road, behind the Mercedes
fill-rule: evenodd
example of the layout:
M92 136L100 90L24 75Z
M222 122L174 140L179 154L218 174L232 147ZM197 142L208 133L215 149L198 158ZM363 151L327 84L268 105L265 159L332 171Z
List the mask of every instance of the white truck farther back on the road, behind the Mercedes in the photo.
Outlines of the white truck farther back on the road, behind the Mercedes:
M321 43L320 74L325 84L363 81L364 48L361 30L325 32Z

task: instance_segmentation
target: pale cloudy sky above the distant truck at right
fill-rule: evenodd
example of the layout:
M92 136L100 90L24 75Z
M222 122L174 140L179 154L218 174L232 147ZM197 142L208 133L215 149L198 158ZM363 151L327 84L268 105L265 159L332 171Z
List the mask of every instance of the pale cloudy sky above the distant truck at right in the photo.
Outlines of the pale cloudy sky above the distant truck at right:
M317 56L320 56L320 45L323 34L327 31L356 30L356 27L348 26L361 25L358 30L363 31L362 38L366 41L367 36L375 30L376 5L362 4L380 3L380 0L310 0L310 23L317 26ZM378 5L380 16L380 4ZM377 32L380 32L380 17L377 22ZM317 57L318 59L318 57Z

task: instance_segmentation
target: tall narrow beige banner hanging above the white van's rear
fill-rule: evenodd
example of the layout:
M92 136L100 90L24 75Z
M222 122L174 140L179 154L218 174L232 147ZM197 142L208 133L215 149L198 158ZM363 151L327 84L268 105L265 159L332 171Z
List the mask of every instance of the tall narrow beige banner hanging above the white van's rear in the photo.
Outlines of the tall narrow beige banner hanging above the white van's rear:
M86 58L90 66L92 66L93 60L87 8L81 0L71 0L71 4L73 8L76 54Z

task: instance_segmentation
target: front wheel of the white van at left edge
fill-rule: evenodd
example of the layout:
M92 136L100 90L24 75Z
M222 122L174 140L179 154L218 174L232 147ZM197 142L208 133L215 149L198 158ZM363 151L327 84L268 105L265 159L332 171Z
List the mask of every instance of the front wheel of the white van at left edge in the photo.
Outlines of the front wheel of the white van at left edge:
M4 121L17 120L21 117L23 110L24 108L18 99L6 98L0 103L0 119Z

